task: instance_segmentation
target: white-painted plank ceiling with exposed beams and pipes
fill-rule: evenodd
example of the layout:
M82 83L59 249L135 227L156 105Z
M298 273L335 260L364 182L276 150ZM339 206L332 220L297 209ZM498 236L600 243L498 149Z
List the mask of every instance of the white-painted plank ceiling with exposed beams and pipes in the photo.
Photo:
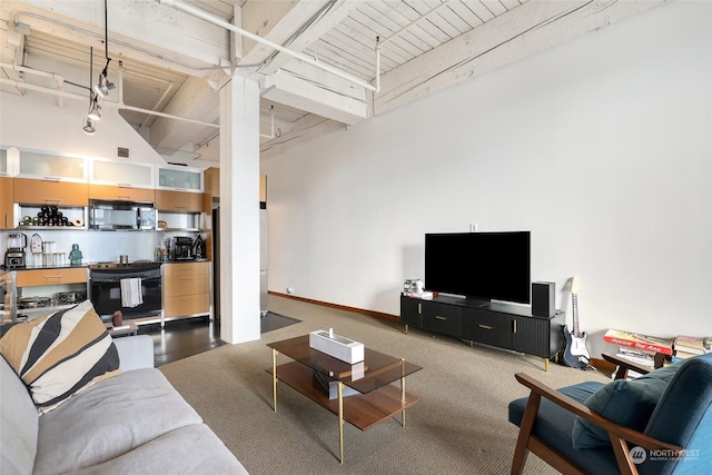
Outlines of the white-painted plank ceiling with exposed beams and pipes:
M206 154L218 129L158 117L179 116L202 123L219 122L216 88L231 71L263 87L263 154L284 152L295 140L308 140L316 127L356 123L445 87L471 80L580 34L642 12L662 0L185 0L224 22L237 9L247 31L337 68L355 80L376 83L376 38L380 42L378 92L325 75L296 59L243 41L233 58L228 31L157 0L109 0L108 77L120 82L120 115L162 155L174 161ZM167 2L170 3L170 2ZM82 68L86 81L66 90L87 96L90 48L93 80L105 63L102 0L0 2L0 60L36 68L51 59L57 72ZM14 27L18 24L18 27ZM29 34L24 28L29 27ZM20 36L18 37L18 31ZM18 47L14 43L21 38ZM230 68L236 66L237 68ZM119 68L121 78L119 81ZM0 68L0 89L22 93L33 75ZM285 82L285 78L289 81ZM19 82L11 82L19 81ZM290 86L283 86L289 83ZM294 86L293 83L296 83ZM316 88L314 88L316 86ZM271 87L271 89L269 89ZM316 89L316 91L314 90ZM118 90L112 92L118 96ZM111 97L110 97L111 98ZM111 99L107 100L111 100ZM112 99L118 100L118 99ZM345 101L340 106L340 101ZM365 113L354 112L362 105ZM139 109L139 110L136 110ZM270 113L275 137L270 137ZM150 131L146 133L146 131ZM211 147L217 150L219 147ZM179 157L180 156L180 157Z

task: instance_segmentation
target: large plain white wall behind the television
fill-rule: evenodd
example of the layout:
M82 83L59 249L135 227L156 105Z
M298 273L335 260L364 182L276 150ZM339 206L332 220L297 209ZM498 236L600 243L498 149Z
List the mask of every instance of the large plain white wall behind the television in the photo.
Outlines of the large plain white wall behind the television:
M269 288L397 315L425 232L531 230L583 330L712 335L712 6L674 2L263 162ZM596 350L601 338L591 338Z

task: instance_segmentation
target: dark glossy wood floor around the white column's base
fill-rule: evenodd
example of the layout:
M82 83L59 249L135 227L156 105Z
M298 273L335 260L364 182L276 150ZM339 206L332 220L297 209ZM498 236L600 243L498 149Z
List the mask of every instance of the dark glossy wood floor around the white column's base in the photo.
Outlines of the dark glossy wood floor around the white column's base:
M260 319L260 330L267 333L298 321L269 311ZM225 345L220 339L220 321L210 321L208 317L168 321L162 330L160 324L144 325L138 333L154 338L157 367Z

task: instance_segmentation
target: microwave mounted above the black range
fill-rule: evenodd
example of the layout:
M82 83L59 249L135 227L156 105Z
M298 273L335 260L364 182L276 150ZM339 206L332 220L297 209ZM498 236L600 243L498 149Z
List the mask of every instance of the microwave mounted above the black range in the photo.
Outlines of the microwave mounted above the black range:
M156 230L152 202L89 200L89 229Z

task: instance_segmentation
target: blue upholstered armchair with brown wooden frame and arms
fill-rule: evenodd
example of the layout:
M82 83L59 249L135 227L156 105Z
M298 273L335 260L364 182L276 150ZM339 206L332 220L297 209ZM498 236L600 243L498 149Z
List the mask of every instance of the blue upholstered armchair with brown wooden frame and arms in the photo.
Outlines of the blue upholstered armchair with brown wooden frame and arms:
M625 379L629 369L649 370L620 358L604 357L619 365L615 374L619 379ZM510 422L520 426L512 474L524 472L530 452L564 474L712 473L712 354L674 366L642 429L626 427L584 404L603 390L606 386L603 383L586 382L553 389L517 373L516 379L531 393L510 403ZM646 378L651 376L654 375ZM616 384L622 382L609 383ZM607 434L610 444L604 445L603 441L600 446L575 448L572 433L576 432L574 425L582 422Z

